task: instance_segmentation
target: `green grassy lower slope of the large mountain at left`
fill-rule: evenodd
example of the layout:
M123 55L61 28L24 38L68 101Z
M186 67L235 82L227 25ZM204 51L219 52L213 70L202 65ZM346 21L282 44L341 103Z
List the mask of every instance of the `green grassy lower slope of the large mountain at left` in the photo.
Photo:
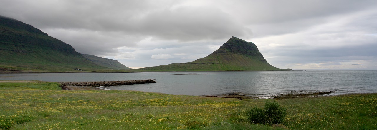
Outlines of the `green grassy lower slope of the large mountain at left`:
M101 67L82 56L64 54L51 49L34 48L34 52L0 51L0 68L23 72L92 72L111 70ZM74 70L80 68L83 71Z

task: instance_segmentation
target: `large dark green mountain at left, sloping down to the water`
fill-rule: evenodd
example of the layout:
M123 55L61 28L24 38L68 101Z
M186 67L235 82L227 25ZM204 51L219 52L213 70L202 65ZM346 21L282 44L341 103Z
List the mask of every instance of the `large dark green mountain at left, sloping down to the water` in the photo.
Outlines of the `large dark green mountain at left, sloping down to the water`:
M0 72L93 72L129 69L119 62L86 56L47 33L0 15ZM89 59L89 60L88 60ZM95 60L93 62L93 60Z

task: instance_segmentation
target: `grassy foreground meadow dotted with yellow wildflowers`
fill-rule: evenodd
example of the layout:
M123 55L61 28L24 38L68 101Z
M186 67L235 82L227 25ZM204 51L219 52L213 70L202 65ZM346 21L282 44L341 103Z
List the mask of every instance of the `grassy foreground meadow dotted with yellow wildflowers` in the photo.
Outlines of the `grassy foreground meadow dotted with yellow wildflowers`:
M265 99L237 100L138 91L63 91L53 82L0 82L0 129L275 130L245 112ZM276 100L294 130L375 130L377 94Z

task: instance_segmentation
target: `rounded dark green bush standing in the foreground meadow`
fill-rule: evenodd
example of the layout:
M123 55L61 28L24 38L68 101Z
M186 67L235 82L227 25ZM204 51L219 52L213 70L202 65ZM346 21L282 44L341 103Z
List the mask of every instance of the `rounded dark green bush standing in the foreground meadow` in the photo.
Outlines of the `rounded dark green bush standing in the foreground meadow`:
M264 109L254 107L246 115L248 121L254 124L279 124L287 116L287 108L280 107L275 101L267 101Z

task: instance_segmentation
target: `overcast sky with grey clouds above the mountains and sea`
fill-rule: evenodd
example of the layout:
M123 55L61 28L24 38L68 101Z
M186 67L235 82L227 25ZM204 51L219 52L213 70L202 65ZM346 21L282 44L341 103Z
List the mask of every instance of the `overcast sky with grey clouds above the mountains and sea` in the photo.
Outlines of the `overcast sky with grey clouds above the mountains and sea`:
M236 36L277 68L377 69L377 0L0 0L0 15L130 68L190 62Z

